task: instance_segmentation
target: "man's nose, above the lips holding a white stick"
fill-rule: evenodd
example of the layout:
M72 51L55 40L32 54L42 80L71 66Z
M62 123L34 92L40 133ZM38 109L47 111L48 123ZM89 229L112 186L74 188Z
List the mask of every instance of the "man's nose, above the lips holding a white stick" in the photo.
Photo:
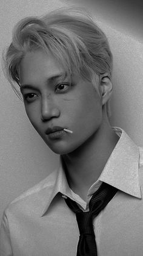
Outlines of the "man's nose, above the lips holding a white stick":
M58 117L60 111L58 106L53 102L53 99L44 98L41 104L41 119L42 121Z

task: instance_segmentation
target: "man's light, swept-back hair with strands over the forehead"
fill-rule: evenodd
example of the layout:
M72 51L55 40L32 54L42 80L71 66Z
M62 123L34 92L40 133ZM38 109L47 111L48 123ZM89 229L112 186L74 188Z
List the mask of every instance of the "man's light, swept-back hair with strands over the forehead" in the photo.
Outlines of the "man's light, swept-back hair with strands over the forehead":
M99 75L111 78L112 54L107 37L84 9L68 7L44 16L30 16L13 29L12 43L3 54L4 72L17 96L22 99L19 64L28 51L51 52L71 77L73 70L84 79L99 85ZM96 87L99 93L99 86ZM107 102L108 103L108 102ZM110 106L107 105L110 116Z

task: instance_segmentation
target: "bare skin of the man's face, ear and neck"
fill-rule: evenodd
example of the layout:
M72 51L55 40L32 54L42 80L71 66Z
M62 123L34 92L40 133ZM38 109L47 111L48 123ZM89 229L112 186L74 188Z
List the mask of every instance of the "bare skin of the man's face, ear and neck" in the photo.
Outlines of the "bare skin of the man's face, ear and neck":
M76 73L71 85L69 79L50 79L62 72L52 54L27 52L19 66L21 92L33 127L53 152L62 155L70 187L86 200L88 188L98 179L118 142L105 105L112 85L107 74L102 75L100 97L93 85ZM45 130L53 126L66 127L73 133L49 138Z

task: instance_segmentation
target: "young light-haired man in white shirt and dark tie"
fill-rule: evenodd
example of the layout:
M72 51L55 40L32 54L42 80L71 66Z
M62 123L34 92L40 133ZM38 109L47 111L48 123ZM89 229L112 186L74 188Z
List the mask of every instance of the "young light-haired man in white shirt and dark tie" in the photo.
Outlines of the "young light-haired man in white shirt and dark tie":
M60 163L5 209L1 255L143 255L143 155L108 121L112 55L104 33L79 10L25 18L5 68Z

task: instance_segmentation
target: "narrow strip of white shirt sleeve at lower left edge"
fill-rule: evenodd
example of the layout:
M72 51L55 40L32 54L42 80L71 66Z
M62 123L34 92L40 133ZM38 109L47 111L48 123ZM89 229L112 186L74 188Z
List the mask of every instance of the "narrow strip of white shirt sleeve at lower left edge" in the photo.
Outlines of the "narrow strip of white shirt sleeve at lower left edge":
M8 220L5 213L2 217L1 230L0 230L0 255L13 256L12 245L10 241L10 231L8 228Z

